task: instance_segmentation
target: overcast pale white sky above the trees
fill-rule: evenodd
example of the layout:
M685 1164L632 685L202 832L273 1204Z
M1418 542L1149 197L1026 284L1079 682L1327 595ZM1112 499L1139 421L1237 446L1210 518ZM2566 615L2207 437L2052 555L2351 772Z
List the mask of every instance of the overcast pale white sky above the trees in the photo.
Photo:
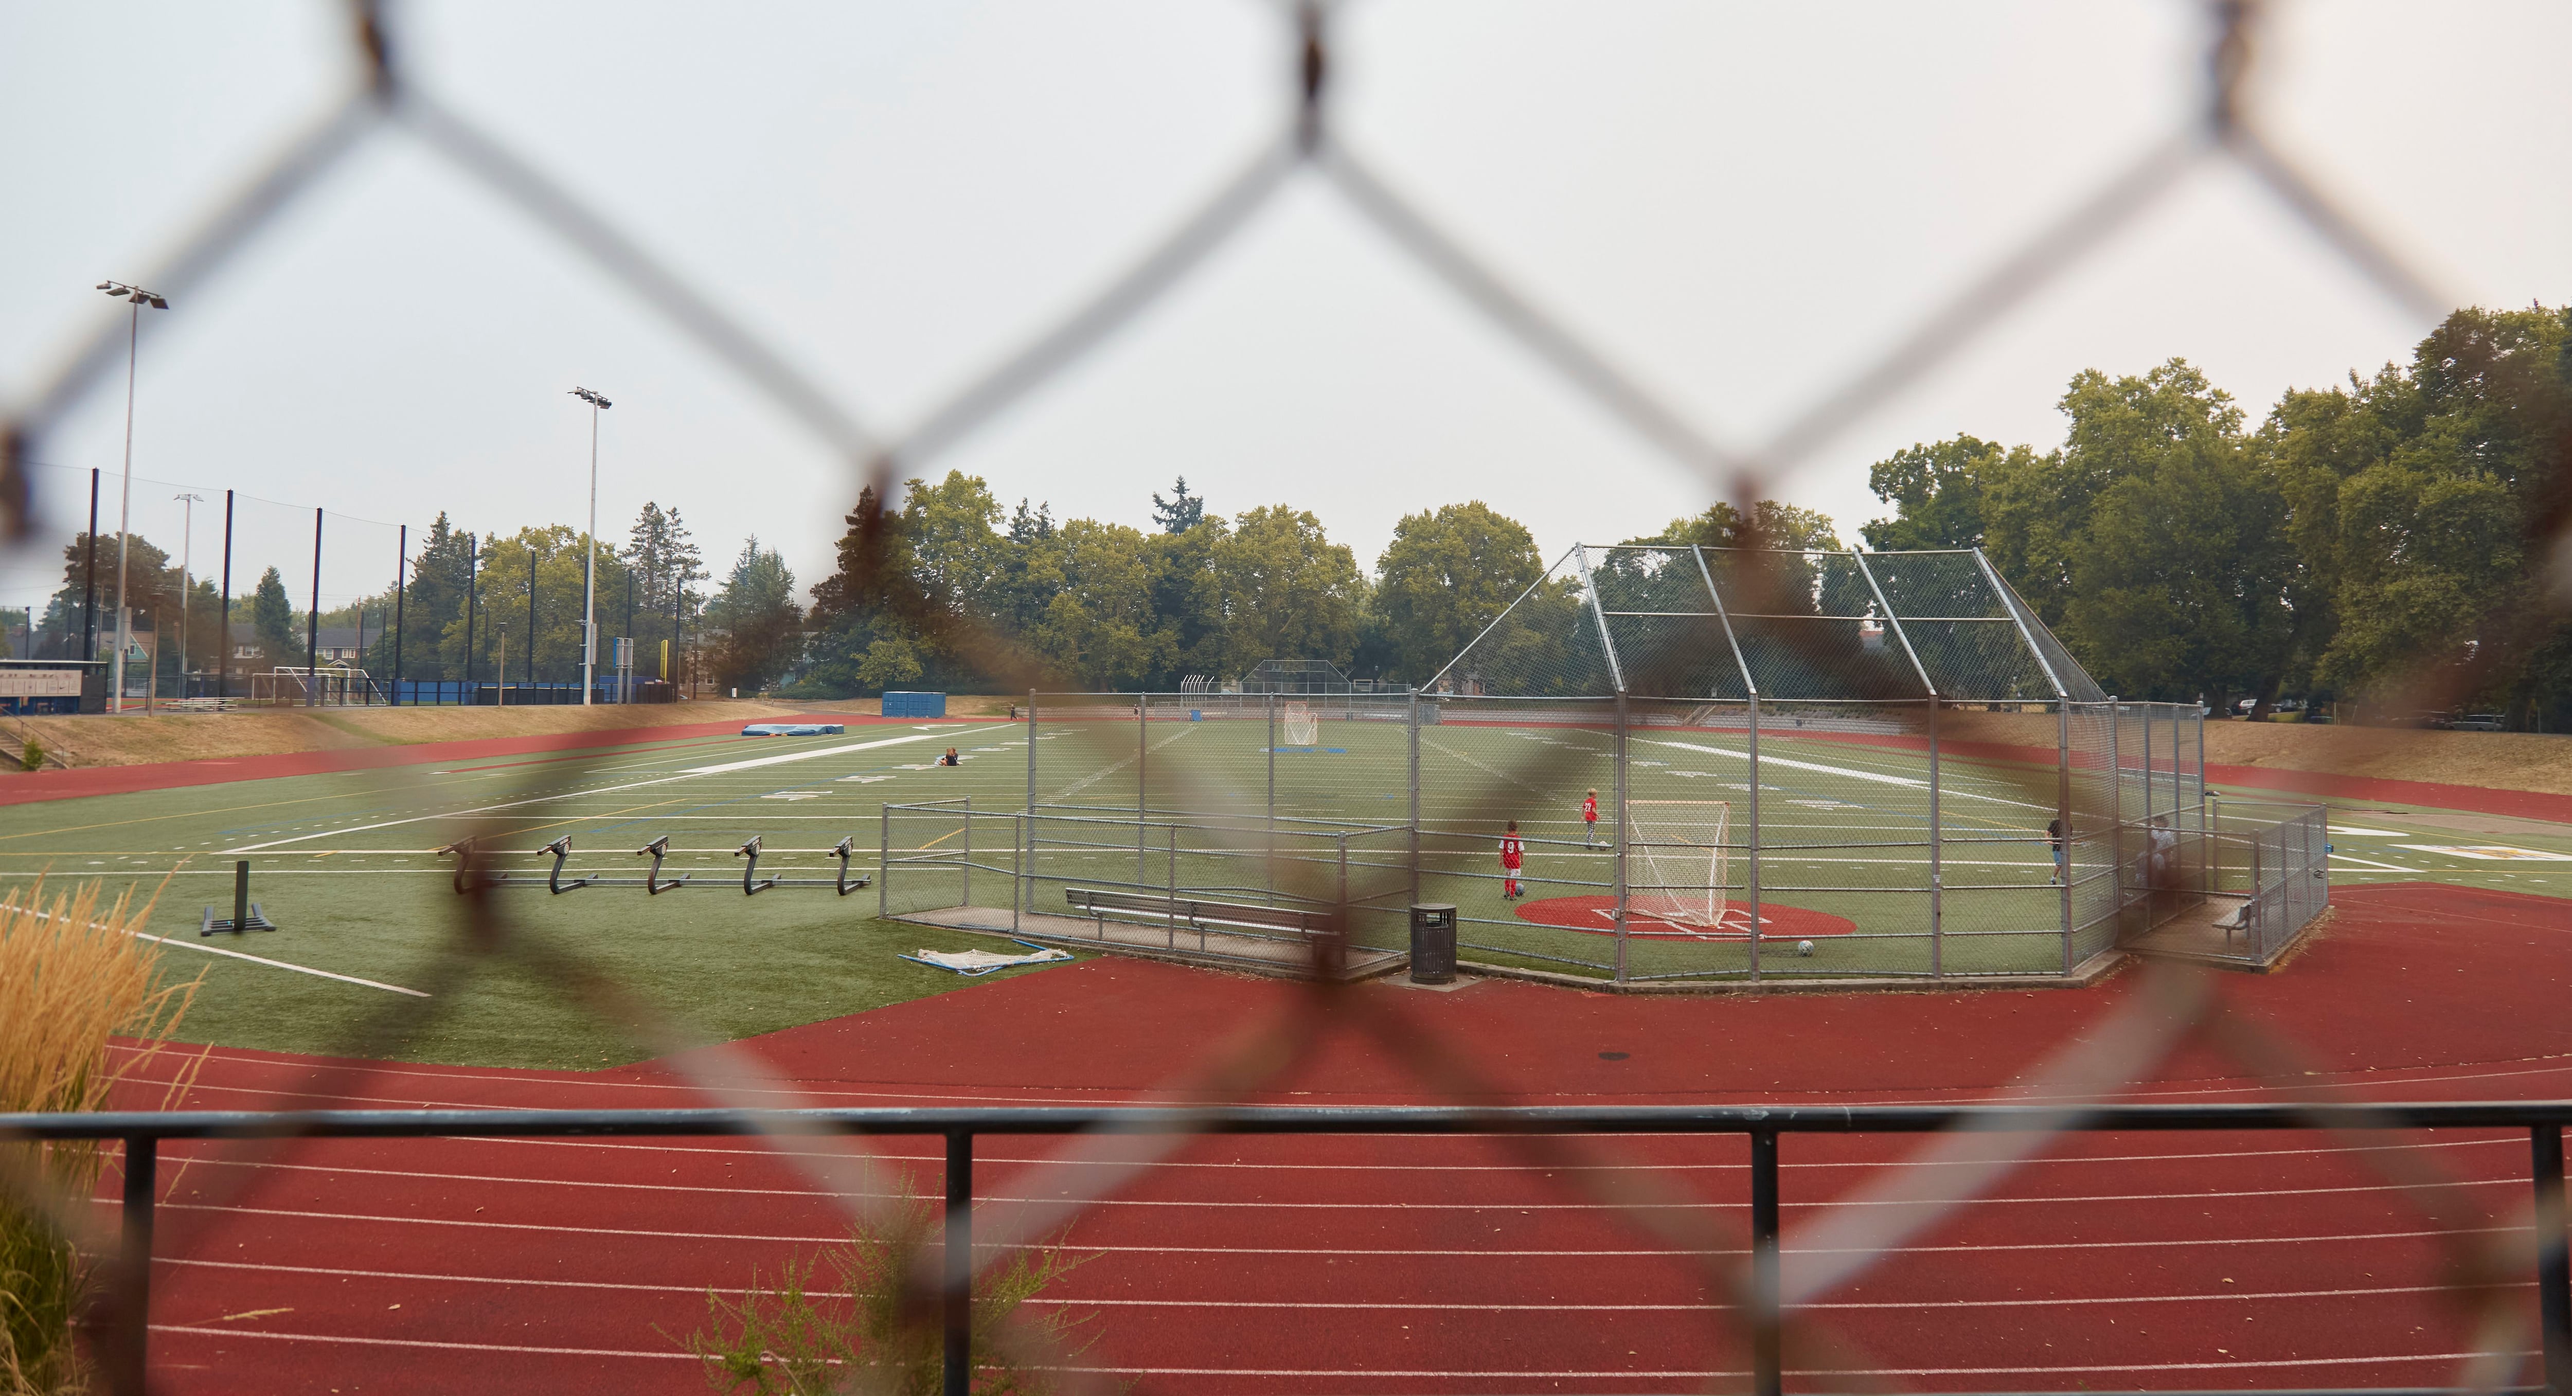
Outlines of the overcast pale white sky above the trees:
M1754 442L2199 100L2196 5L1350 5L1337 123L1466 247L1705 432ZM1268 139L1260 3L412 5L419 80L610 213L885 432L1157 239ZM352 80L337 5L0 3L0 398ZM2572 5L2289 5L2261 95L2287 149L2459 301L2572 301ZM1309 180L1309 177L1307 177ZM136 532L177 486L244 506L234 586L309 568L311 506L602 532L676 504L810 584L851 481L795 422L517 211L378 136L152 327ZM2253 414L2428 329L2209 167L1780 494L1842 535L1867 463L1975 432L2052 445L2081 368L2204 365ZM121 452L121 375L44 447L54 530ZM1301 183L1175 296L939 463L1057 517L1314 509L1373 563L1484 499L1551 553L1703 509L1656 455ZM75 488L77 486L77 488ZM108 522L113 530L113 522ZM324 599L391 576L334 522ZM59 548L54 532L51 548ZM198 512L211 566L219 524ZM368 560L373 558L373 560ZM0 558L0 604L59 563ZM296 581L301 602L303 584Z

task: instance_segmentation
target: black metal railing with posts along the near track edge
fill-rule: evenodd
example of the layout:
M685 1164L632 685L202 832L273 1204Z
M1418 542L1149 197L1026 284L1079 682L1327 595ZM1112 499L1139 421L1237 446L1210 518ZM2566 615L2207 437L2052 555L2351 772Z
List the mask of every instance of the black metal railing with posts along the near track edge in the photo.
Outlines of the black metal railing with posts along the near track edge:
M111 1350L111 1391L144 1391L154 1159L162 1139L419 1139L419 1136L710 1136L849 1134L939 1136L944 1162L946 1393L970 1388L972 1141L977 1134L1741 1134L1749 1139L1749 1329L1754 1391L1777 1396L1782 1360L1782 1255L1777 1154L1788 1134L1934 1131L2225 1131L2225 1129L2523 1129L2531 1139L2536 1298L2544 1386L2572 1396L2572 1252L2564 1237L2564 1126L2572 1100L2405 1105L1235 1105L1165 1108L831 1108L831 1111L108 1111L0 1116L0 1141L121 1139L123 1327Z

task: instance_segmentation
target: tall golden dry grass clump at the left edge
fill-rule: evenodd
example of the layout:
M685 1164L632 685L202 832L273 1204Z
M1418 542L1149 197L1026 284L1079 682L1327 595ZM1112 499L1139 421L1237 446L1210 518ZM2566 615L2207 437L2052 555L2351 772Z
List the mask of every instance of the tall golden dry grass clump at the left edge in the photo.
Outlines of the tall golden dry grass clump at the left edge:
M159 949L126 931L149 910L129 897L100 910L95 882L0 897L0 1111L100 1111L167 1044L198 980L172 982ZM111 1054L116 1036L139 1049ZM103 1167L95 1141L0 1144L0 1393L87 1391L72 1324L85 1252L100 1255L80 1231Z

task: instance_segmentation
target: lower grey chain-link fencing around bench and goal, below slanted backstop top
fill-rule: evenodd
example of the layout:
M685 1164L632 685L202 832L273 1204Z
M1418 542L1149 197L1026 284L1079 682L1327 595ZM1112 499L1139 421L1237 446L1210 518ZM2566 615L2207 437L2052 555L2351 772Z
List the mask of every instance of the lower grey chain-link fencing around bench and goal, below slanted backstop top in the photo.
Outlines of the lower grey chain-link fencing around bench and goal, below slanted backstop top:
M877 895L887 915L1129 946L1157 928L1253 959L1332 913L1353 951L1399 954L1409 908L1438 902L1476 964L1620 985L2068 980L2155 931L2271 959L2328 902L2323 812L2209 800L2202 720L2114 699L1029 694L1019 740L988 751L1024 746L1024 792L887 807Z

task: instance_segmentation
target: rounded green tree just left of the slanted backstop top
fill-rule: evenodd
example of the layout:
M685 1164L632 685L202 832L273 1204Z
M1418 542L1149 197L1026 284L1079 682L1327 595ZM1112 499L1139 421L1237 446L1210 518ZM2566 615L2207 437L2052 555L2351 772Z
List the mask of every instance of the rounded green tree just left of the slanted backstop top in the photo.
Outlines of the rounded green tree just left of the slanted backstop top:
M1376 558L1371 607L1391 671L1438 674L1541 576L1535 535L1479 499L1407 514Z

